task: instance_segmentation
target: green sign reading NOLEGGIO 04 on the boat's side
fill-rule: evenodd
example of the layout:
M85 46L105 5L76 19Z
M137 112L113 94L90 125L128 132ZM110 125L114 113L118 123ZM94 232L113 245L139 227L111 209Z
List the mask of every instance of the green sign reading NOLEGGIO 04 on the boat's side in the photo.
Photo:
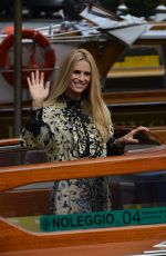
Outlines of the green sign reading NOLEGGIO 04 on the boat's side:
M41 232L166 223L166 207L40 216Z

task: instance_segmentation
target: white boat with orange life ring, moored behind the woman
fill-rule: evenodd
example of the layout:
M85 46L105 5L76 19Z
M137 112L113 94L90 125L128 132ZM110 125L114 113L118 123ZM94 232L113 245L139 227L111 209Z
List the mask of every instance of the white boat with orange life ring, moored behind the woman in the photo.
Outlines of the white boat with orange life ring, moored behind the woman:
M146 28L145 21L142 21L139 19L123 20L116 17L114 13L110 13L108 11L95 6L86 7L80 13L80 16L82 17L81 21L63 21L59 24L50 24L35 29L27 28L33 30L33 32L25 32L27 38L25 36L22 36L22 73L27 71L32 71L38 67L40 70L43 71L45 71L44 69L52 69L51 71L54 72L51 72L51 75L54 78L56 77L56 71L59 70L63 57L69 51L71 51L71 49L84 47L87 49L90 48L90 51L92 51L92 53L94 55L98 65L101 76L102 78L104 78L113 62L126 47L122 42L116 41L117 36L113 36L112 39L111 35L115 31L121 31L122 29L125 31L128 28L133 29L134 31L135 26L137 30L138 28L141 28L142 32L145 31ZM43 41L44 39L41 39L40 41L35 40L37 32L40 32L41 35L43 35L43 38L45 37L50 40L50 45L55 53L54 66L50 66L50 60L44 59L45 51L48 50L49 46L42 46L41 41ZM142 32L136 32L135 40L138 37L137 33ZM13 72L13 45L9 42L8 39L9 37L11 37L12 33L13 27L10 26L8 28L3 28L3 33L0 35L0 53L3 58L3 61L0 61L0 71L2 75L0 76L0 104L13 101L14 79L11 79L12 81L10 82L10 79L6 79L11 76L11 72ZM30 36L30 33L33 35ZM114 38L116 41L115 43L120 45L120 51L116 49L116 57L112 58L112 56L115 55L113 52L114 50L112 51L112 49L114 48L114 46L112 47L112 41L114 41ZM126 39L124 38L123 40L122 41L126 43ZM134 40L133 36L131 40ZM10 41L13 42L13 37ZM93 48L96 48L96 52L94 52ZM3 57L4 55L6 57ZM44 65L44 61L46 61L46 66ZM25 87L23 87L22 89L22 99L23 101L29 100L29 92Z

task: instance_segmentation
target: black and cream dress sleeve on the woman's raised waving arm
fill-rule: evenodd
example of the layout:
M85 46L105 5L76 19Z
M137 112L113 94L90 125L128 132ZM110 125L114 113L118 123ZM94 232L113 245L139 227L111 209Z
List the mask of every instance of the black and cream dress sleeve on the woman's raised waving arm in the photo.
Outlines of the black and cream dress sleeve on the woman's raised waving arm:
M50 142L52 132L48 124L43 121L43 108L31 109L29 120L22 128L22 146L44 147Z

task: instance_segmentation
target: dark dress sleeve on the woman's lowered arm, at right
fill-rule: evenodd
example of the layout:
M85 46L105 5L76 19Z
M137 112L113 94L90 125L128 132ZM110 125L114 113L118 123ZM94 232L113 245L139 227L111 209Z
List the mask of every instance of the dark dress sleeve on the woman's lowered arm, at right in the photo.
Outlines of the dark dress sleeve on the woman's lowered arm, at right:
M107 156L121 156L124 154L125 144L120 144L117 139L111 137L106 144Z

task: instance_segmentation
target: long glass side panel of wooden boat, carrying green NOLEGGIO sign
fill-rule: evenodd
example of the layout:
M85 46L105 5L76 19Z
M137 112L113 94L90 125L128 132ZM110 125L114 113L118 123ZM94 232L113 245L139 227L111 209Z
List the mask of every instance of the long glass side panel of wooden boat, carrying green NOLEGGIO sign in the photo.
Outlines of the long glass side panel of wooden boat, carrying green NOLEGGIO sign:
M0 193L0 215L35 233L165 223L165 186L166 170L31 184ZM61 215L52 215L53 201Z

